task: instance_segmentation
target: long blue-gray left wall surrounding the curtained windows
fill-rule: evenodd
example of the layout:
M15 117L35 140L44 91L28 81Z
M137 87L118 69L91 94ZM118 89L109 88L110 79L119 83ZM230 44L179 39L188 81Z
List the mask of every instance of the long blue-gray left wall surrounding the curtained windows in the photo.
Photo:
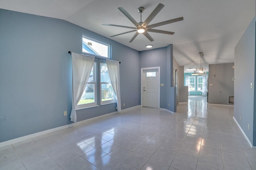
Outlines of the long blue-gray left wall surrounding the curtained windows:
M110 43L112 59L121 61L122 109L140 105L138 51L64 20L0 9L0 23L0 142L72 123L68 51L82 53L82 34ZM79 110L77 120L115 107Z

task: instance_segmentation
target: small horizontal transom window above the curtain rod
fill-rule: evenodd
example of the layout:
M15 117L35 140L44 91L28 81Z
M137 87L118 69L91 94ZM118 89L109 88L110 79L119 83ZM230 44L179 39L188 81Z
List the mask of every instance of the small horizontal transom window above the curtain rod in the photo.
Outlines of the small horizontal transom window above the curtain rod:
M82 52L110 59L110 44L83 35Z

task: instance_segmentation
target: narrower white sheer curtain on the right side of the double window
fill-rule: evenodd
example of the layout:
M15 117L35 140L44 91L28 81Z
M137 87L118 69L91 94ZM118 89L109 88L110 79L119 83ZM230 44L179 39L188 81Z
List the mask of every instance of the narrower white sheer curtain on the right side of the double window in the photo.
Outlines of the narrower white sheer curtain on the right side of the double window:
M116 99L116 109L121 111L121 97L120 97L120 75L119 75L119 62L106 60L108 67L108 75L111 80L112 88Z

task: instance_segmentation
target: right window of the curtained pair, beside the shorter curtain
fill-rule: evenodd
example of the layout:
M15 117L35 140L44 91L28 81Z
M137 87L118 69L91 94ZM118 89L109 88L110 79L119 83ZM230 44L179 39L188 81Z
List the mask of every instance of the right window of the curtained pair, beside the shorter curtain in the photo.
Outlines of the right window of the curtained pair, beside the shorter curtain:
M106 63L100 63L100 104L116 102Z

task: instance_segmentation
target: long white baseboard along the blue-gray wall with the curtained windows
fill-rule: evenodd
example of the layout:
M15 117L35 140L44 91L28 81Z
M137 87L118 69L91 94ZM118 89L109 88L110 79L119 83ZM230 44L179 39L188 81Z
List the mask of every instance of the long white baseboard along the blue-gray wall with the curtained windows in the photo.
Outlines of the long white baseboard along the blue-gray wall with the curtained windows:
M130 107L130 108L127 108L127 109L123 109L120 111L120 113L123 113L125 111L129 111L130 109L135 109L137 107L140 107L139 106L134 106L134 107ZM93 118L90 118L90 119L86 119L86 120L83 120L83 121L78 121L76 123L71 123L71 124L68 124L68 125L64 125L64 126L60 126L60 127L56 127L56 128L53 128L53 129L48 129L46 131L41 131L41 132L38 132L38 133L33 133L31 135L26 135L26 136L23 136L23 137L18 137L18 138L15 138L15 139L11 139L9 141L4 141L4 142L1 142L0 143L0 147L4 147L6 145L11 145L13 143L18 143L18 142L21 142L21 141L25 141L27 139L31 139L33 137L38 137L40 135L45 135L47 133L52 133L52 132L55 132L55 131L59 131L59 130L62 130L62 129L66 129L68 127L73 127L74 125L79 125L81 123L86 123L86 122L89 122L89 121L93 121L93 120L96 120L96 119L100 119L102 117L106 117L106 116L110 116L110 115L114 115L118 113L117 111L115 112L112 112L112 113L107 113L107 114L104 114L104 115L100 115L100 116L97 116L97 117L93 117Z

